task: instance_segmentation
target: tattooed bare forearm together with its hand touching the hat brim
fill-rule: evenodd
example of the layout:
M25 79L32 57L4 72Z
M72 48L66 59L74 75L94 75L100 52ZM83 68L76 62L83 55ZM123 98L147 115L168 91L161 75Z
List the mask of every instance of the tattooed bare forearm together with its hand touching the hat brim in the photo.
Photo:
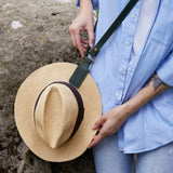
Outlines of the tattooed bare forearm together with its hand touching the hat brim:
M99 133L94 136L89 148L99 143L104 137L118 132L130 116L168 88L169 86L165 85L157 75L155 75L136 95L127 103L110 109L94 123L92 129L98 130Z

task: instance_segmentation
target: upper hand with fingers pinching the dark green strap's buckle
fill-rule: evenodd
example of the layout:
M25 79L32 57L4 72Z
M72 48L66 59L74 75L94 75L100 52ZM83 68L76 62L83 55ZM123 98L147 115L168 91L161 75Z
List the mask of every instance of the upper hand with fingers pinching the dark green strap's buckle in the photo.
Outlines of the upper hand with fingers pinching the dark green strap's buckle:
M85 6L80 8L80 12L77 18L69 26L69 32L71 36L72 44L79 50L82 57L84 57L84 51L88 44L92 48L94 42L94 30L93 30L93 8L91 2ZM81 38L81 30L88 32L89 40Z

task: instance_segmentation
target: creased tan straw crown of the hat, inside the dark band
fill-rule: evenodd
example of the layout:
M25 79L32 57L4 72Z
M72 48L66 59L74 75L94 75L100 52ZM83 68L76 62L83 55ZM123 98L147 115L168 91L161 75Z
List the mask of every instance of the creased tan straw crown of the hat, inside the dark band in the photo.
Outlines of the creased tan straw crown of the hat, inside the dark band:
M66 85L53 83L41 93L35 111L36 129L51 148L68 141L77 117L76 97Z

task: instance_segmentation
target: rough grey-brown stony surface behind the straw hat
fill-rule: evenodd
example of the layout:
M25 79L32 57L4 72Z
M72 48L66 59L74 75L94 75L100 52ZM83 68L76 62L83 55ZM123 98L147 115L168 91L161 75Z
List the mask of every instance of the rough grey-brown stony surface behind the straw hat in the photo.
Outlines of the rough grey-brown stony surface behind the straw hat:
M37 158L19 137L13 112L16 92L34 70L54 62L80 61L68 34L77 12L74 1L0 1L1 173L94 172L90 150L67 163L49 163Z

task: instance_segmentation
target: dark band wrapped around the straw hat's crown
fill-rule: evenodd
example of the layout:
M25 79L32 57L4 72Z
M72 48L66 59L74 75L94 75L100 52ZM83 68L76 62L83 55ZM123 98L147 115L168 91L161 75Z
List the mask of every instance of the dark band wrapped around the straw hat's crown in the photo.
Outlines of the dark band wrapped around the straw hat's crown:
M83 102L82 102L82 97L80 95L80 93L78 92L78 90L76 88L74 88L71 84L67 83L67 82L63 82L63 81L54 81L50 84L48 84L39 94L39 96L37 97L37 101L36 101L36 104L35 104L35 108L34 108L34 121L35 121L35 125L36 125L36 108L37 108L37 105L38 105L38 102L39 102L39 98L41 96L41 94L43 93L43 91L50 86L51 84L64 84L66 86L68 86L70 89L70 91L74 93L76 99L77 99L77 103L78 103L78 117L77 117L77 120L76 120L76 124L75 124L75 128L74 128L74 131L72 133L70 134L69 138L70 139L75 133L78 131L82 120L83 120L83 115L84 115L84 107L83 107Z

